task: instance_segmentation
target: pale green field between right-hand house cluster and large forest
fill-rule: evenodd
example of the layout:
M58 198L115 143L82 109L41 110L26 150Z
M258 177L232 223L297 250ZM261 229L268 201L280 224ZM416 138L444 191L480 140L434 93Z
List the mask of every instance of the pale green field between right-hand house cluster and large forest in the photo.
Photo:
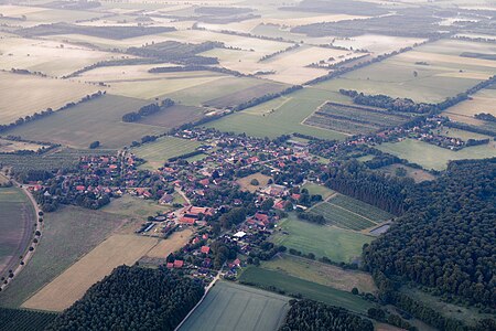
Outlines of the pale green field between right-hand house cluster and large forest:
M428 170L444 170L450 160L486 159L496 157L496 146L494 142L452 151L423 141L405 139L400 142L382 143L377 146L377 148L384 152L420 164Z

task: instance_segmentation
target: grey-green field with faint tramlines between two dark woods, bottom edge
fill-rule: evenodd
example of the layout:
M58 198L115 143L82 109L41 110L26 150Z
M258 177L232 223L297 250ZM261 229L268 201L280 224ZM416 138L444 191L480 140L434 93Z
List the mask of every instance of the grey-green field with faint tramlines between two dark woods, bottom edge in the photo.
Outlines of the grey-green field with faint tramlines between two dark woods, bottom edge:
M288 302L288 297L218 281L179 330L278 330L289 310Z

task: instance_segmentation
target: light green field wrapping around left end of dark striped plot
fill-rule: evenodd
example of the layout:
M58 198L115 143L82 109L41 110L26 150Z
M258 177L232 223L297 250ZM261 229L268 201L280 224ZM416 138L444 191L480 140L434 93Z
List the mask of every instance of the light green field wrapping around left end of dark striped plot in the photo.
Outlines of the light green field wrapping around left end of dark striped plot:
M246 132L255 137L276 138L299 132L317 138L344 139L342 132L302 124L319 106L328 99L347 100L337 94L316 88L303 88L236 114L208 122L206 127L227 132Z

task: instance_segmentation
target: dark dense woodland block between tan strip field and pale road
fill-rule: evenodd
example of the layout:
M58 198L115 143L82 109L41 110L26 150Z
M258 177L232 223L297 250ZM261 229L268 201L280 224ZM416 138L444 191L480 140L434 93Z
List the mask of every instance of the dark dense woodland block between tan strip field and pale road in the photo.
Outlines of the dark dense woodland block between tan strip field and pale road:
M46 330L174 330L203 293L166 269L120 266Z

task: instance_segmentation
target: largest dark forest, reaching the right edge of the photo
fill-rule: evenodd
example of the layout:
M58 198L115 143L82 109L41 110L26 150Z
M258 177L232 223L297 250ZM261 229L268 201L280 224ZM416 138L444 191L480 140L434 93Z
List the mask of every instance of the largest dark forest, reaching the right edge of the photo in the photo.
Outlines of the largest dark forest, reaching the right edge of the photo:
M406 213L364 250L366 268L496 308L495 178L496 159L456 161L410 188Z

